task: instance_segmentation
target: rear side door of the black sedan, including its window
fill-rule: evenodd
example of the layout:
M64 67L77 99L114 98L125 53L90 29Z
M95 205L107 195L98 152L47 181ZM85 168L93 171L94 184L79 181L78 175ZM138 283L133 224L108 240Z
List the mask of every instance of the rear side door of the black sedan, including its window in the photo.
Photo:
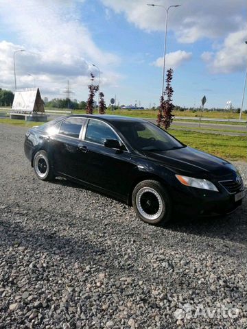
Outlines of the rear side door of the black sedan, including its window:
M78 162L81 161L83 153L80 149L82 130L86 119L82 117L70 117L64 119L60 124L58 134L51 137L49 142L54 168L57 173L76 177L78 170L83 167Z

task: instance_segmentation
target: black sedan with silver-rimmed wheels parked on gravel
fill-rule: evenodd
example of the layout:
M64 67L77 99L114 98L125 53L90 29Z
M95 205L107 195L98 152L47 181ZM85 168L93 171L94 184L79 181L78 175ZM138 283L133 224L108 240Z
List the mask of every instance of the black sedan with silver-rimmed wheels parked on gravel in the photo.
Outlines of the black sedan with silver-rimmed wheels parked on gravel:
M28 130L25 155L40 180L62 176L82 183L132 204L152 224L168 221L173 210L226 214L244 197L233 164L141 119L60 117Z

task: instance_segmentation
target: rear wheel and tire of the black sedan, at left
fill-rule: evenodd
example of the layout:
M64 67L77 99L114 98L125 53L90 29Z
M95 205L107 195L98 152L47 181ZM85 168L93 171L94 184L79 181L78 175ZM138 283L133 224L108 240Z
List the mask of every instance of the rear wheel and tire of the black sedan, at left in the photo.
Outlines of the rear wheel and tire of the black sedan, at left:
M34 172L39 180L49 181L54 180L55 175L51 169L46 151L38 151L34 156Z

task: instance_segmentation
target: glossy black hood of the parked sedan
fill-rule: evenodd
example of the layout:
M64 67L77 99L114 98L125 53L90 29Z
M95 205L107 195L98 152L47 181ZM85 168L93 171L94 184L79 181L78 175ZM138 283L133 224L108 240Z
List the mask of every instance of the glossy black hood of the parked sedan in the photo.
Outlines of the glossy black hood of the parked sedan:
M236 169L230 162L188 146L169 151L149 151L145 152L145 156L162 162L170 169L176 169L180 173L236 175Z

